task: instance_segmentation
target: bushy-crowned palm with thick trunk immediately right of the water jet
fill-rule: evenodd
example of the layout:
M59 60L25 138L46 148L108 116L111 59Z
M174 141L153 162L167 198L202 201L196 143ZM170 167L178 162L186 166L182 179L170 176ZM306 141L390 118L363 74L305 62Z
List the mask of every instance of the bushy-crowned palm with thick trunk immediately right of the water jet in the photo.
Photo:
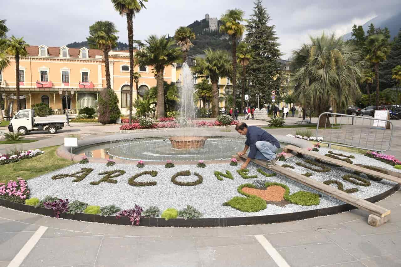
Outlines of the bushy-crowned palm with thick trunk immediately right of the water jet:
M216 118L219 114L219 78L229 76L232 71L232 65L229 55L225 51L213 51L209 48L204 52L206 54L205 59L197 58L196 66L192 67L192 71L210 78L213 93L212 117Z

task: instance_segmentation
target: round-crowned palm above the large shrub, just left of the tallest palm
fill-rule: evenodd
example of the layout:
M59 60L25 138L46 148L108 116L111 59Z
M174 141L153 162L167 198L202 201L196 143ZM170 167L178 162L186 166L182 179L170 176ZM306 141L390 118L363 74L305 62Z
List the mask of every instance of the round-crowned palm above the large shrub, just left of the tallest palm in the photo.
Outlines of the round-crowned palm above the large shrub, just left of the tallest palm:
M89 26L89 37L86 38L91 49L103 51L107 89L111 89L109 51L117 46L118 36L115 35L117 32L113 22L97 21Z

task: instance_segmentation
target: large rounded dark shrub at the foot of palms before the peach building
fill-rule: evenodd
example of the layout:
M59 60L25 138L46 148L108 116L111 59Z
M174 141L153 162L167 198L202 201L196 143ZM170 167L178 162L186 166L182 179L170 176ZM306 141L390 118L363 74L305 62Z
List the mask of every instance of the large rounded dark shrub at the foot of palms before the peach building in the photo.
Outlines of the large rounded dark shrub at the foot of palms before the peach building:
M121 115L121 111L118 107L118 97L111 89L104 88L100 92L98 105L98 121L102 124L115 123Z

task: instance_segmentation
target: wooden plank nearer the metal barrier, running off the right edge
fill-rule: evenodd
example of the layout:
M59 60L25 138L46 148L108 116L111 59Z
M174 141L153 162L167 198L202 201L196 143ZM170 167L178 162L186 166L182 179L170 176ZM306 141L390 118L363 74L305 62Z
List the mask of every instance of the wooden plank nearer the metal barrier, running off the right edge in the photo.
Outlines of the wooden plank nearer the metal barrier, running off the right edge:
M363 168L363 167L359 167L359 166L356 166L356 165L353 165L353 164L349 164L349 163L344 162L342 160L336 160L334 158L329 158L329 157L326 157L324 155L318 154L318 153L316 153L314 151L308 151L308 150L305 150L305 149L302 149L302 148L298 148L298 147L292 146L292 145L286 146L285 149L286 149L286 151L298 152L298 153L301 153L301 154L304 154L304 155L308 155L308 156L310 156L312 158L317 158L319 160L324 160L326 162L330 162L330 163L334 163L334 164L340 165L341 167L348 168L350 170L355 170L355 171L358 171L358 172L362 172L362 173L365 173L365 174L369 174L369 175L372 175L372 176L375 176L375 177L379 177L379 178L382 178L382 179L385 179L385 180L389 180L389 181L401 184L401 178L399 178L399 177L391 176L389 174L384 174L384 173L381 173L381 172L376 172L374 170L369 170L367 168ZM389 173L391 173L391 171Z

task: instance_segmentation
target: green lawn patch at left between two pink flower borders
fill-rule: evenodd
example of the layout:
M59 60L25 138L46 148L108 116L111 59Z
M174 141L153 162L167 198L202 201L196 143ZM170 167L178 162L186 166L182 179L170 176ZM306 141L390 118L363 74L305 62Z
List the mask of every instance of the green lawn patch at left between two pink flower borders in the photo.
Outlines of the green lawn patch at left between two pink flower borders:
M0 183L5 183L9 180L17 180L17 177L29 180L75 163L57 156L57 148L58 146L41 148L45 154L19 162L1 165Z

